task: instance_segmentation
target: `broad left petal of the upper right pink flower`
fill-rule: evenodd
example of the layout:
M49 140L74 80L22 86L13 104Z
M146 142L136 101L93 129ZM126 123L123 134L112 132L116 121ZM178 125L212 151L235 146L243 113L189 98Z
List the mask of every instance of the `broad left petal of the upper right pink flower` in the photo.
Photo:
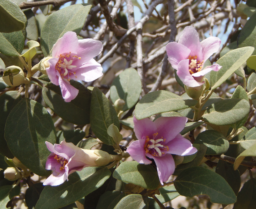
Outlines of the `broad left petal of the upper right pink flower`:
M166 53L171 66L177 70L179 62L188 59L190 49L180 43L170 42L166 45Z

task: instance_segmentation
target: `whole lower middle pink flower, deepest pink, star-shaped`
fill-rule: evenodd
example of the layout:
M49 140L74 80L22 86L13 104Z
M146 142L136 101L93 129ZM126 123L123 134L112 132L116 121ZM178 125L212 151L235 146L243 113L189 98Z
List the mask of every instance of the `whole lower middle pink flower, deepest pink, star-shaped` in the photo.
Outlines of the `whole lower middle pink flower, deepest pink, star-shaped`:
M161 184L166 182L175 170L171 154L191 155L197 152L191 142L181 136L187 122L186 117L160 117L154 122L149 118L137 120L133 117L137 139L130 144L127 152L138 163L150 164L155 161Z

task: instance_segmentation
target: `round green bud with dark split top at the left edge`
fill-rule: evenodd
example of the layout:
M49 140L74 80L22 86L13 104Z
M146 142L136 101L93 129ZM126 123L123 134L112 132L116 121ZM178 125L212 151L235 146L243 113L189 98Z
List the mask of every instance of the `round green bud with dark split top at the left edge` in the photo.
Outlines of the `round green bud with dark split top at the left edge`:
M23 83L29 84L30 80L24 75L23 70L18 66L9 66L3 72L3 80L9 86L18 86Z

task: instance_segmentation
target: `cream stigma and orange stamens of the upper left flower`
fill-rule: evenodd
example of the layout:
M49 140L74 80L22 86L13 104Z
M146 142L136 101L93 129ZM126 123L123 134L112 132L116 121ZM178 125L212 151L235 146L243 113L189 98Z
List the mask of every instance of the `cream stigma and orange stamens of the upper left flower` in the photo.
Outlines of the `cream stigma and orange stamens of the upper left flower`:
M70 81L70 75L76 76L76 71L72 71L73 68L75 68L75 65L71 65L72 62L76 59L81 59L81 57L78 56L71 56L71 52L66 55L60 54L59 61L57 62L55 69L59 71L62 78L66 78L68 81Z

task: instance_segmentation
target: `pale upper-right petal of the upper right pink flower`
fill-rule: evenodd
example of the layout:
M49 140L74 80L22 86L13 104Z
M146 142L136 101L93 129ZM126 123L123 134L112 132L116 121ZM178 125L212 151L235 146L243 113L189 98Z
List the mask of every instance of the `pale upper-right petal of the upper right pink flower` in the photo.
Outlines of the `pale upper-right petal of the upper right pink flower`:
M221 40L218 37L209 37L200 42L202 46L204 61L207 60L213 53L219 50Z

